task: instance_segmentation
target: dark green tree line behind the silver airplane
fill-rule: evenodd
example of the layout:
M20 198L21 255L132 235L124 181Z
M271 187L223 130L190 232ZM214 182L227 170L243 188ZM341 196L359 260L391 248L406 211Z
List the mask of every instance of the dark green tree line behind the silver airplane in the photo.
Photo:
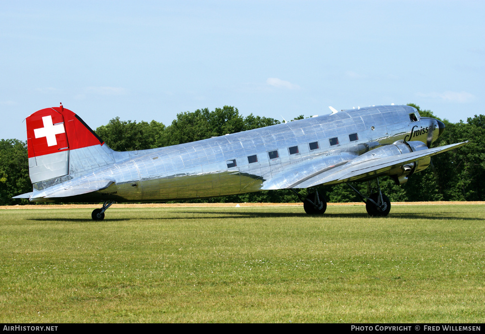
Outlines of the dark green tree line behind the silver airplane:
M409 104L421 116L436 117L429 110L421 110ZM302 119L303 115L294 118ZM441 120L441 119L439 119ZM451 123L441 120L446 129L433 146L442 146L469 140L470 143L431 158L430 166L411 175L401 186L389 177L379 179L380 186L393 202L406 201L485 201L485 116L469 117L467 122ZM113 118L108 124L96 129L96 133L108 146L116 151L132 151L189 143L279 124L274 118L250 114L243 117L237 108L225 106L214 111L201 109L177 115L172 124L160 122L123 121ZM367 182L354 184L363 193L368 193ZM371 185L372 187L372 185ZM328 202L358 202L356 192L345 184L319 187ZM27 200L14 200L12 196L32 191L29 178L27 143L17 139L0 140L0 205L26 204ZM305 196L307 190L300 190ZM191 202L299 202L288 190L261 191L231 195Z

